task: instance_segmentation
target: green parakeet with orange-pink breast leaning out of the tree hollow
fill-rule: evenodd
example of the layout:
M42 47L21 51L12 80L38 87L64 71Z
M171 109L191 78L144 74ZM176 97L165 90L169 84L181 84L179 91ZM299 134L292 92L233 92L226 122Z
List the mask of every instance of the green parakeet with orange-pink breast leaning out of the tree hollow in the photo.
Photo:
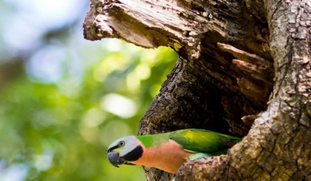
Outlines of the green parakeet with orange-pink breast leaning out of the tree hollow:
M186 160L226 154L241 138L204 129L182 129L169 133L126 136L108 147L109 162L143 165L175 174Z

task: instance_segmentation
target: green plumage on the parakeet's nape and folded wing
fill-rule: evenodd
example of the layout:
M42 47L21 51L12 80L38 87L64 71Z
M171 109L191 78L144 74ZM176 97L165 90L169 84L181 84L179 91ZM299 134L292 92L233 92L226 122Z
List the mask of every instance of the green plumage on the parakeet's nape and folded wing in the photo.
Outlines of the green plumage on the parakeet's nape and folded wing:
M208 155L226 154L229 144L241 141L241 138L216 133L204 129L182 129L169 133L137 136L146 148L168 142L170 139L180 144L182 148L193 153Z

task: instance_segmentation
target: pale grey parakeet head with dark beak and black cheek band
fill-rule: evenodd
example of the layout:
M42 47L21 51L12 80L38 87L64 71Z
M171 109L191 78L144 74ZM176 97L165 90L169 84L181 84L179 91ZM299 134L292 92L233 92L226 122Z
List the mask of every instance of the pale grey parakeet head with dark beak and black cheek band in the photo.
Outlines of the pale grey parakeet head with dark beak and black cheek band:
M117 139L108 147L108 160L115 167L118 165L135 165L143 153L142 143L135 136Z

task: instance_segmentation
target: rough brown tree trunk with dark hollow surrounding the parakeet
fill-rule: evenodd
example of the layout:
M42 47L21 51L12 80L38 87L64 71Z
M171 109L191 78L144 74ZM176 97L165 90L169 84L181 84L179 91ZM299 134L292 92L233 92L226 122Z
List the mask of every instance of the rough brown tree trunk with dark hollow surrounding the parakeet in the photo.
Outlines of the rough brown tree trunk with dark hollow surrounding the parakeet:
M244 136L227 155L148 180L307 180L311 174L310 0L91 0L89 40L179 54L138 134L184 128Z

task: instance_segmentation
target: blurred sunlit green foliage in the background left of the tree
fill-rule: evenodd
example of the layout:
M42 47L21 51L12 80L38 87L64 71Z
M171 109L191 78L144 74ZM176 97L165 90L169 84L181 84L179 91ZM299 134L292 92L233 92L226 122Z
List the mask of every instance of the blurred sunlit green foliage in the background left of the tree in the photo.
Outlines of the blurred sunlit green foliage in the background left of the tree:
M0 18L8 17L5 13L10 12L0 8ZM169 48L143 49L117 39L83 40L84 15L76 17L77 24L53 29L65 27L66 36L23 49L28 52L19 55L24 72L0 84L1 181L146 180L141 166L110 165L107 147L136 134L177 55ZM1 32L6 23L0 24ZM4 35L0 43L1 70L17 45ZM0 81L5 81L1 72Z

